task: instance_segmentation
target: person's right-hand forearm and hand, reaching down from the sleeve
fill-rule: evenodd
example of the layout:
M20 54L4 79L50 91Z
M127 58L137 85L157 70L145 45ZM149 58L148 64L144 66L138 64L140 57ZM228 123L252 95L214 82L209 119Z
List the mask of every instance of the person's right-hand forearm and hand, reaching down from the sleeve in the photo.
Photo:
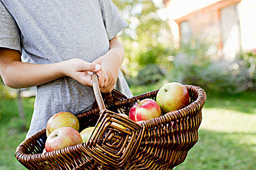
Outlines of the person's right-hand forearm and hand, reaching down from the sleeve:
M101 65L100 72L106 77L103 87L100 88L103 93L113 90L114 85L117 83L118 71L124 58L124 48L118 41L117 36L110 40L109 43L109 51L93 62Z

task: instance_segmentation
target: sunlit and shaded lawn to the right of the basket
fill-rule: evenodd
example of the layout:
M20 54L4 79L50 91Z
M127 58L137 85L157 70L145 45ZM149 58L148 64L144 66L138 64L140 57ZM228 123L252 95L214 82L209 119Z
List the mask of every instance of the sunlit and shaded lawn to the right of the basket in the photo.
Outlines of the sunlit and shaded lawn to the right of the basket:
M255 170L256 114L203 108L199 140L175 170Z

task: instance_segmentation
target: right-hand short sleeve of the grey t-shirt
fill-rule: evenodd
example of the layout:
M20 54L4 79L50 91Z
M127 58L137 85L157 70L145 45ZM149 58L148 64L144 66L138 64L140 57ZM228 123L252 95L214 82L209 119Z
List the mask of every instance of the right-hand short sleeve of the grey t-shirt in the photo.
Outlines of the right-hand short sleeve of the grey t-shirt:
M122 19L111 0L99 0L101 12L109 40L113 39L128 23Z

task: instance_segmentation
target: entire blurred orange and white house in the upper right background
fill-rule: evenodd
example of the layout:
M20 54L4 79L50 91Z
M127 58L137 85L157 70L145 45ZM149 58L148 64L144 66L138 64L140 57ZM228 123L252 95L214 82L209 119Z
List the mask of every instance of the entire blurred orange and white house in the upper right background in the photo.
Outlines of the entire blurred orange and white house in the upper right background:
M241 45L253 48L253 44L256 44L256 24L251 21L251 25L255 25L255 27L252 26L248 29L245 26L241 26L243 22L239 22L242 18L243 20L248 20L249 13L244 13L244 11L248 8L247 4L249 2L251 5L256 4L256 0L242 0L243 3L241 2L241 5L239 4L240 2L241 0L218 0L216 3L176 18L174 21L179 28L180 41L188 41L189 36L203 39L212 43L211 51L212 54L217 55L217 59L235 60L237 54L241 51ZM237 4L239 4L238 7ZM250 9L249 12L254 11L251 16L252 14L256 16L256 7ZM188 30L188 25L190 32L184 32L184 30ZM186 28L184 29L183 27ZM247 32L254 35L253 38L250 36L251 43L245 40L246 36L249 37ZM182 37L184 35L186 37ZM248 47L246 48L248 49Z

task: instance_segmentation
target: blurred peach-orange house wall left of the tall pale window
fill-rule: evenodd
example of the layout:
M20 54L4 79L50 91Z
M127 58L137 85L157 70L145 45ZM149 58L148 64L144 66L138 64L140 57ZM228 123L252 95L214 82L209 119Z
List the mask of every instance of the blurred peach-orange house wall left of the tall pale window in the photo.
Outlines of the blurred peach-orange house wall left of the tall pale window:
M199 38L205 42L212 43L210 54L215 56L216 60L223 58L222 40L220 30L220 11L216 5L211 5L199 9L187 16L178 18L176 22L179 25L180 40L183 41L188 37L183 37L183 23L187 22L191 30L191 38Z

